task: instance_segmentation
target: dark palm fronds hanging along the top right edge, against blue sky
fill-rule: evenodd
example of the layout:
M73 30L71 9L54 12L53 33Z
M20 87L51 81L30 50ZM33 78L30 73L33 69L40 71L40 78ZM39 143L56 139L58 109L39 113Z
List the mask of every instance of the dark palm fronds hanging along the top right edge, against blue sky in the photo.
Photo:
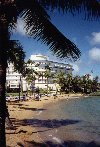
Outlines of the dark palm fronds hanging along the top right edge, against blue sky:
M98 19L100 17L99 0L38 0L38 2L45 9L58 9L72 14L84 11L87 19Z

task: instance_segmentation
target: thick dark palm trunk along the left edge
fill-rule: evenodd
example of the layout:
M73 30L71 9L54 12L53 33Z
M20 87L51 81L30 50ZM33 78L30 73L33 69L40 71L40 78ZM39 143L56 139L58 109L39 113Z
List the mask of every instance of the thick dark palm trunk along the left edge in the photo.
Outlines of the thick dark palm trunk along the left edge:
M5 118L6 118L6 67L8 48L8 27L0 23L0 147L6 147Z

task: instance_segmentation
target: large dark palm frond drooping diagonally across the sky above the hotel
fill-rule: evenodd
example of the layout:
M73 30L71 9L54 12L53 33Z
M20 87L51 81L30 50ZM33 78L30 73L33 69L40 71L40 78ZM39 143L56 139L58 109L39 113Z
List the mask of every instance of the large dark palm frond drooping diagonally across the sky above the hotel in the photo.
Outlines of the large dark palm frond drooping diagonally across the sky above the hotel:
M28 3L28 0L25 0ZM32 1L33 2L33 1ZM39 4L35 1L37 6ZM35 5L36 6L36 5ZM48 45L50 50L60 58L69 58L76 60L80 57L80 51L77 46L67 39L48 19L44 13L40 13L39 6L37 9L34 5L29 9L23 9L21 17L26 23L26 30L30 36L37 40L41 40ZM44 12L44 11L43 11Z

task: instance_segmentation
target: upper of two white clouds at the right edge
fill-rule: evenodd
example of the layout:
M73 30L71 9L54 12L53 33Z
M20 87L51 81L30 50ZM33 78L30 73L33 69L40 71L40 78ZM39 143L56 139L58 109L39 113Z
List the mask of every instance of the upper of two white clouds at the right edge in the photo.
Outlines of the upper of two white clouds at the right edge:
M100 32L93 32L92 36L90 37L91 44L100 44Z

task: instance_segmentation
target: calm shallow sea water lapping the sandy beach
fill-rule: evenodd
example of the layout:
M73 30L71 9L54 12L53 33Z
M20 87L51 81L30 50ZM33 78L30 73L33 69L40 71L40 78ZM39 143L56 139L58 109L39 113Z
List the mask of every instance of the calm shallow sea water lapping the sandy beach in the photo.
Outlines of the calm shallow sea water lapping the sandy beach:
M37 115L36 122L45 141L66 147L100 146L100 97L50 104Z

